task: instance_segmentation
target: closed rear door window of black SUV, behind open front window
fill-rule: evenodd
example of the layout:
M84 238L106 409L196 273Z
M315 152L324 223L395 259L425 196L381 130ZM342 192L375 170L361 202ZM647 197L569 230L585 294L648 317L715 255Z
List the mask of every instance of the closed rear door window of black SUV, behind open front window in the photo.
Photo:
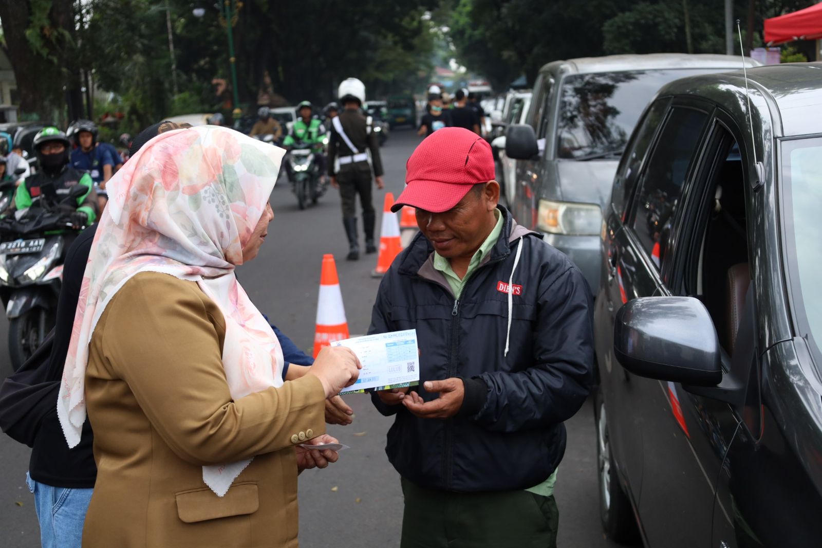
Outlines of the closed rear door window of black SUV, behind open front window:
M657 267L665 255L682 184L707 120L708 114L701 110L673 108L642 175L631 226Z

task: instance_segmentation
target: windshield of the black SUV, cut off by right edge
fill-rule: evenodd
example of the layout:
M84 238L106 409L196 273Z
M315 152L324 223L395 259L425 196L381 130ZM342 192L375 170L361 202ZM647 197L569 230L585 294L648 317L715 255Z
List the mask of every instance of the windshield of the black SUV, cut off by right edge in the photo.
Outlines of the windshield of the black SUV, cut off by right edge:
M782 179L786 192L783 225L792 312L817 356L822 346L822 138L797 139L783 145Z

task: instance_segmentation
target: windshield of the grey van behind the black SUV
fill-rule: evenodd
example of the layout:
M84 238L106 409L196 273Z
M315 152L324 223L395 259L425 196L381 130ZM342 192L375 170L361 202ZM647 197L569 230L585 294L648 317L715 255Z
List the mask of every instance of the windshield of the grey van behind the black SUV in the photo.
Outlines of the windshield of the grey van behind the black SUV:
M640 114L669 81L727 69L668 69L575 74L562 81L556 157L619 157Z

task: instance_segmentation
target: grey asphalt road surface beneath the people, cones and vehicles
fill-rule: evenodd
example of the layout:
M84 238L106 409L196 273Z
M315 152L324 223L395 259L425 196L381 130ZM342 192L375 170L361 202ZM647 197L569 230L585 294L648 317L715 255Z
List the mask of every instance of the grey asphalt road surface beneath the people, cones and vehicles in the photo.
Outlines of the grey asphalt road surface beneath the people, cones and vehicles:
M382 149L386 191L395 197L404 185L405 160L419 137L394 132ZM385 192L376 191L381 209ZM256 261L238 275L252 300L298 346L311 351L316 297L323 253L337 261L345 312L352 334L364 333L379 280L370 272L374 256L346 262L347 243L339 210L339 194L331 190L316 206L299 211L284 180L271 197L275 220ZM377 227L379 230L379 219ZM0 378L10 372L7 323L0 315ZM346 398L355 411L353 425L331 426L329 433L351 448L326 470L300 476L300 541L303 548L325 546L399 546L402 493L399 476L384 452L390 419L379 415L365 396ZM617 546L603 540L598 517L597 464L590 402L567 423L568 446L556 483L560 509L559 546ZM34 499L25 487L29 449L0 435L0 546L39 546ZM125 495L125 494L124 494ZM515 526L515 524L511 524Z

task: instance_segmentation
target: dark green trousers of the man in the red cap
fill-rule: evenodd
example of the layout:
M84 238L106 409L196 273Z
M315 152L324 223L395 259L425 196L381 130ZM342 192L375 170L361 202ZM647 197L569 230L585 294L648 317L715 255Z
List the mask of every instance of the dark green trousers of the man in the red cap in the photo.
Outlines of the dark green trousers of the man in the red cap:
M449 493L402 478L400 548L556 548L553 496L529 491Z

